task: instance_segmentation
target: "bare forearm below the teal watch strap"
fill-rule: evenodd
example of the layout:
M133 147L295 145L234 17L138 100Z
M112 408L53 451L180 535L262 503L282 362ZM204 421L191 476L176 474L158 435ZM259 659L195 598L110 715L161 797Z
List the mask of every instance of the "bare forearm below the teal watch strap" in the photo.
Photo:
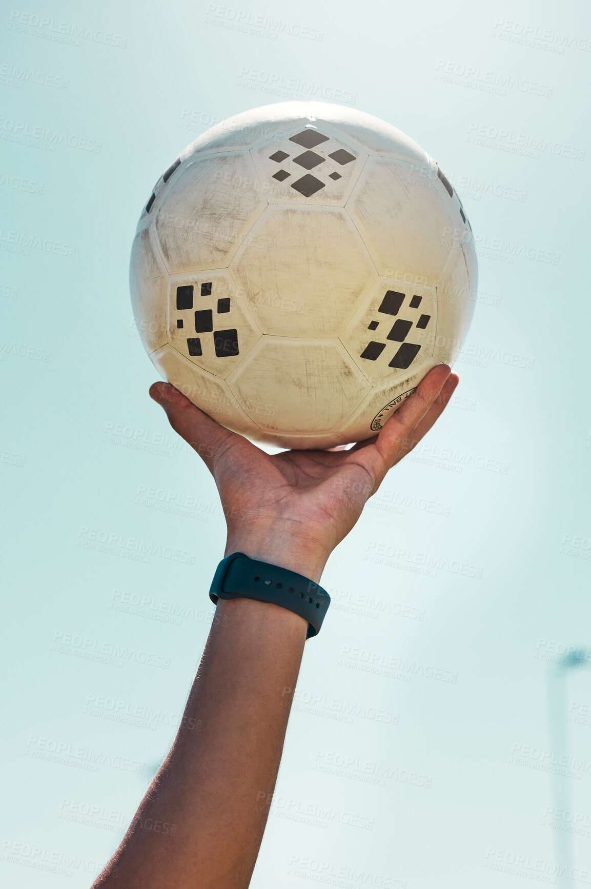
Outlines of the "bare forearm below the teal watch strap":
M220 599L171 752L96 887L249 885L306 631L276 605Z

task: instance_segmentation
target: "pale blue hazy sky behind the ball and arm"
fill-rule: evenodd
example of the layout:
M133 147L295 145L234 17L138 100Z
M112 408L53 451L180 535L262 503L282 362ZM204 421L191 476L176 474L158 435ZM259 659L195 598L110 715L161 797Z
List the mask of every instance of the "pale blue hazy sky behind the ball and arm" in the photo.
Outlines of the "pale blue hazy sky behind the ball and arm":
M306 87L395 124L442 165L479 239L481 296L453 404L323 575L333 606L307 645L252 885L518 889L551 873L573 821L563 885L585 885L591 661L565 689L575 814L555 827L539 766L561 754L548 663L591 647L586 4L16 12L0 18L2 885L92 883L172 741L212 613L217 495L149 400L156 372L133 327L140 208L198 132ZM47 39L60 22L83 28L80 45ZM42 83L15 85L14 66ZM17 124L31 144L12 140ZM36 128L58 133L55 150ZM80 545L95 532L112 553ZM147 563L124 557L130 538L153 545ZM393 557L372 562L381 548ZM77 656L115 645L128 660ZM379 772L384 786L363 780Z

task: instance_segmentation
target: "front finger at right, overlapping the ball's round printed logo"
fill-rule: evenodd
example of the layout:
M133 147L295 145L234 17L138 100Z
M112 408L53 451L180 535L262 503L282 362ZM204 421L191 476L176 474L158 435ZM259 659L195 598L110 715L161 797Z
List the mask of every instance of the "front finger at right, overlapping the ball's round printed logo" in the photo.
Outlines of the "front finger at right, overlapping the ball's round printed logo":
M406 439L435 403L450 374L451 369L447 364L434 367L421 380L416 392L384 424L376 441L376 448L386 469L390 469L400 459L399 453L402 452Z

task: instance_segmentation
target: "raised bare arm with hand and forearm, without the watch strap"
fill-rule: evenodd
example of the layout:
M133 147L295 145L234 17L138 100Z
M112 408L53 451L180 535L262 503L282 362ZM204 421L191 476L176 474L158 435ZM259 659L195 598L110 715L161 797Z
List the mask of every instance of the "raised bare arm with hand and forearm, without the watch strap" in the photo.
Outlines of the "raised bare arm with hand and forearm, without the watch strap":
M172 386L155 383L150 395L212 471L227 517L226 555L242 552L317 582L367 498L431 428L457 382L439 365L379 436L349 451L272 457ZM307 622L278 605L220 599L179 733L95 889L249 885L306 633Z

